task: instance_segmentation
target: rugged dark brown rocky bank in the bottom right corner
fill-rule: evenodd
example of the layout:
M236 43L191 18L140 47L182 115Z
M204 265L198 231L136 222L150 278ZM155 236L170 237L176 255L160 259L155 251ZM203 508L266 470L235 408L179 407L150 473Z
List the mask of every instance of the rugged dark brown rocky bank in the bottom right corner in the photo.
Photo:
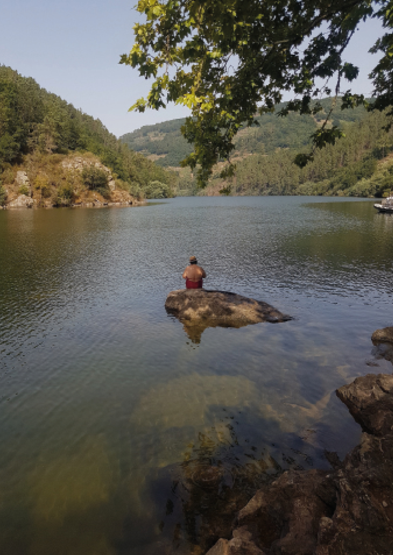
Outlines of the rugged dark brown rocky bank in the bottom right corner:
M241 509L208 555L392 555L393 376L336 391L363 433L334 470L288 471Z

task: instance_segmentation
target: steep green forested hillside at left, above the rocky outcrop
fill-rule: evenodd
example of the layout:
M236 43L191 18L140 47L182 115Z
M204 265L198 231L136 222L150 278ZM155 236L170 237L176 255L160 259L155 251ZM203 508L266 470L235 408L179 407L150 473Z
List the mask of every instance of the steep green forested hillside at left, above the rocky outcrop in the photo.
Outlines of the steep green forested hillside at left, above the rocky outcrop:
M151 189L152 182L165 185L167 192L174 182L172 174L130 150L99 119L48 93L34 79L0 65L0 180L3 184L7 175L12 175L10 168L23 166L26 157L76 151L95 154L125 188L142 196L145 190Z

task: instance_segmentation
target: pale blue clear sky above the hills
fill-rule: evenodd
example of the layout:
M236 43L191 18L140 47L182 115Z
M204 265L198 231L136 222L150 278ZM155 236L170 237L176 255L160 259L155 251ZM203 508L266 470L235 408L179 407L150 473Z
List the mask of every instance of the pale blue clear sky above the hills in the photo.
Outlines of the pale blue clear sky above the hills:
M120 54L132 48L133 26L140 21L134 2L0 0L0 63L99 118L117 137L142 125L185 117L188 109L175 105L128 112L149 90L149 81L136 69L118 63ZM367 75L377 55L368 50L381 33L379 21L362 23L346 50L345 60L360 67L351 85L356 93L372 92Z

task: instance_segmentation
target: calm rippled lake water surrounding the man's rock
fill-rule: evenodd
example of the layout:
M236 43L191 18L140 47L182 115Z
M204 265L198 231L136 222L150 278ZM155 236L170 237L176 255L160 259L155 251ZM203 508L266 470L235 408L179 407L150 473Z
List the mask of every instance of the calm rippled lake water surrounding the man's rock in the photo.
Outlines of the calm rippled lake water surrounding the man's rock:
M336 388L392 372L392 246L353 199L1 211L0 552L198 555L261 483L343 457ZM164 302L190 255L294 320L189 337Z

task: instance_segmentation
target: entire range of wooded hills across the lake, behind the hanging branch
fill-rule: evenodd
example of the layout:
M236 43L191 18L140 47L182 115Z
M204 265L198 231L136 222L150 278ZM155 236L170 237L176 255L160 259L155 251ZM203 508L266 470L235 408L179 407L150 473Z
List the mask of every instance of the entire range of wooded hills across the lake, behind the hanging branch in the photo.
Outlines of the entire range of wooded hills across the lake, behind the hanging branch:
M344 129L345 137L317 150L314 162L300 169L294 164L296 153L308 152L310 135L326 118L332 99L321 101L323 110L314 117L277 113L258 118L259 127L240 130L235 138L232 159L236 163L234 178L219 178L218 164L208 187L200 191L188 168L178 169L178 194L324 194L382 196L393 189L393 162L390 173L390 152L393 135L383 129L384 113L367 113L363 107L341 110L337 102L329 126ZM277 107L277 111L282 105ZM147 125L120 139L130 147L156 158L157 163L179 166L191 152L191 145L182 138L180 127L184 119ZM386 159L386 157L388 157ZM386 160L385 160L386 159ZM382 161L386 163L382 164Z

